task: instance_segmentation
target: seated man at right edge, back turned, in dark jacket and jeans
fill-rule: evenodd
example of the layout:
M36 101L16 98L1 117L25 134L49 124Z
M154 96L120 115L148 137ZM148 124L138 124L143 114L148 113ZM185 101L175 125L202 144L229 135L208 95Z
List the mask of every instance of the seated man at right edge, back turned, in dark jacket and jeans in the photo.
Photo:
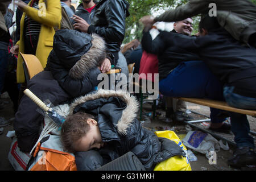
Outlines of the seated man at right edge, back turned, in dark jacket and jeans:
M201 16L200 38L177 38L171 34L165 44L195 53L210 71L224 84L224 98L228 105L256 110L256 50L244 47L220 26L216 17ZM179 41L177 41L179 40ZM218 98L221 100L221 97ZM237 150L228 163L242 167L256 164L254 138L245 114L230 112L232 131Z

